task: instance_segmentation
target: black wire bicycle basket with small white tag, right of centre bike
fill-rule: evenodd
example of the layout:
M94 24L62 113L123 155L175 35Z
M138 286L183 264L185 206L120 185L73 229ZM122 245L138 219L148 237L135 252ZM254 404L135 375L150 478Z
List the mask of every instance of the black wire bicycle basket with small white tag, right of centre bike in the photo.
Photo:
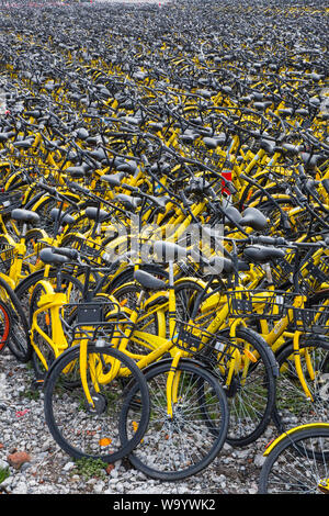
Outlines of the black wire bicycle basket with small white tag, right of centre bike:
M280 319L286 312L286 292L235 290L226 292L230 317Z

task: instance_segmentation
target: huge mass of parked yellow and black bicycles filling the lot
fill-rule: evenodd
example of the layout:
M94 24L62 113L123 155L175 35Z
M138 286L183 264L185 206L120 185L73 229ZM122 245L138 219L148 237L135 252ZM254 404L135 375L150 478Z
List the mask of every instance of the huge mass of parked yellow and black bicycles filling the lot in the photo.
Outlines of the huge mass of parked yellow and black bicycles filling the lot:
M328 422L329 13L245 3L2 8L0 349L75 458Z

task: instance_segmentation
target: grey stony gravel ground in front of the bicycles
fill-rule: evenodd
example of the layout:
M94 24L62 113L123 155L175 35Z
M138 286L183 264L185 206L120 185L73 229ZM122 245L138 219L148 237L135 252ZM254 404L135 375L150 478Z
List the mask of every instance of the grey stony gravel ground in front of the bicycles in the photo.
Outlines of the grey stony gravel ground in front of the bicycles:
M83 471L54 441L44 420L43 393L32 390L33 373L7 349L0 356L0 472L10 475L0 483L9 494L256 494L262 451L273 430L247 448L224 446L218 458L198 475L181 482L146 478L127 460L83 475ZM27 461L13 463L16 452ZM1 482L1 481L0 481Z

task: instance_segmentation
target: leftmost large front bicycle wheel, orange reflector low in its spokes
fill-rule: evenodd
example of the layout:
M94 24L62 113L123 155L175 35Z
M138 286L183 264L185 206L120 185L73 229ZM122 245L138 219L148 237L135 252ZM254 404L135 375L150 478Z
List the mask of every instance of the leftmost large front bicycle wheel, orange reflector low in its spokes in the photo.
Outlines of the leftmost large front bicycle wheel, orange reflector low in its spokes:
M49 431L56 442L71 457L101 459L115 462L128 455L140 441L149 418L149 395L146 380L135 362L110 346L88 347L87 380L94 408L87 403L80 379L79 346L65 351L54 362L45 382L44 410ZM97 371L106 374L111 361L117 360L127 377L115 377L111 382L99 381ZM117 364L117 362L115 362ZM121 440L120 420L125 404L132 407L131 388L134 385L136 410L129 413L134 431Z

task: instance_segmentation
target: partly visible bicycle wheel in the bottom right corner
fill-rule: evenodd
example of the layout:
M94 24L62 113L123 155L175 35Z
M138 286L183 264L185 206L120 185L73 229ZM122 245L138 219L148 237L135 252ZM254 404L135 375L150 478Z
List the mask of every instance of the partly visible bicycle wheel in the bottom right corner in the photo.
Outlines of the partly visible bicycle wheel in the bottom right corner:
M259 494L320 494L320 481L328 478L329 425L310 425L287 434L270 451Z

